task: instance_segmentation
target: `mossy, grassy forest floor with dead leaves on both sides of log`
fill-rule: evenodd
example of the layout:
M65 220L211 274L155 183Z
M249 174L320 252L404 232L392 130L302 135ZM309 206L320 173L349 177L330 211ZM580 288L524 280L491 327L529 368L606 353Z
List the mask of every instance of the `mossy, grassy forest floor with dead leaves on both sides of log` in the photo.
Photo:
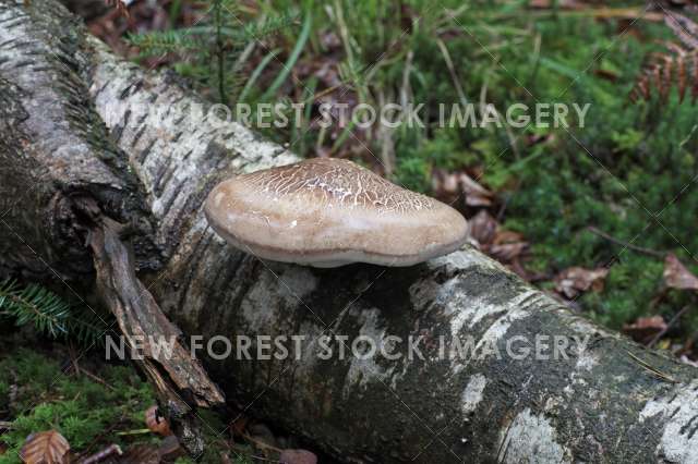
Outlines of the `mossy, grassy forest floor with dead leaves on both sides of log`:
M192 28L197 37L200 27L210 36L215 3L134 2L128 16L113 9L88 26L121 54L176 70L212 100L222 88L233 102L305 103L299 126L256 129L303 157L350 158L453 204L469 218L473 244L522 278L640 343L686 363L698 358L698 112L690 95L698 75L682 68L667 11L592 1L224 2L231 28L269 19L279 26L227 38L219 82L215 44L182 35ZM133 36L152 30L170 34L169 41ZM682 47L686 57L698 53ZM648 62L664 68L643 82L649 99L633 99L641 76L658 69ZM688 87L683 102L676 87ZM437 121L438 103L481 101L589 110L583 126ZM317 124L322 103L402 102L424 103L424 127ZM0 426L12 420L0 443L17 450L28 432L59 428L84 455L112 443L159 447L143 419L153 393L134 371L73 365L70 346L0 351ZM245 462L268 451L250 448L274 439L261 430L258 439L238 437L248 443L241 450L214 449L210 462L221 462L221 452ZM2 450L0 463L19 462Z

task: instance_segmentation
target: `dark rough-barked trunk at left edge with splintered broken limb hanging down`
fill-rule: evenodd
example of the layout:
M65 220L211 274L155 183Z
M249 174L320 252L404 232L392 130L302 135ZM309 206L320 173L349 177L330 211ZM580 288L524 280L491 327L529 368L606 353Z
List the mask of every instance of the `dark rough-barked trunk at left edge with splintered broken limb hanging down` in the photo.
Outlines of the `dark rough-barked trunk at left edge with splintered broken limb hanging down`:
M134 237L142 267L160 262L140 181L91 102L82 27L58 3L14 1L0 2L0 196L9 200L0 211L0 274L80 282L93 272L86 228L98 293L129 341L177 338L121 239ZM182 444L201 453L195 407L221 405L221 392L180 341L166 359L156 358L147 341L143 345L140 365L164 411Z

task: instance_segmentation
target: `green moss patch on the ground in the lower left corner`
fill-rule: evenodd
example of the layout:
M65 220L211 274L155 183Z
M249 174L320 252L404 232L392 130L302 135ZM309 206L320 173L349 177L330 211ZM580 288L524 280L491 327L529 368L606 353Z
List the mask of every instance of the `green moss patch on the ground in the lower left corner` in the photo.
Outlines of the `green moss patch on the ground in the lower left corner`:
M149 386L123 366L104 366L98 374L109 387L85 376L69 376L58 362L27 349L1 359L0 410L10 407L14 420L10 431L0 436L10 448L0 455L0 463L20 463L16 452L36 431L56 429L80 452L112 427L143 428L144 411L155 401ZM10 381L19 387L12 405L4 404ZM128 437L110 436L109 440L130 443Z

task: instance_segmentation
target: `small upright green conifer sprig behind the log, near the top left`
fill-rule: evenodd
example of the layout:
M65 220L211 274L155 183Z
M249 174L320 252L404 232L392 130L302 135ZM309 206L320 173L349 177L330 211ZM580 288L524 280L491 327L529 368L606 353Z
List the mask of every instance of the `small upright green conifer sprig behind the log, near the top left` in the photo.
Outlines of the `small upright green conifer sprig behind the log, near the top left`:
M217 100L227 105L242 87L236 65L245 45L260 40L291 23L294 16L281 15L264 22L242 23L236 0L205 0L206 14L194 26L129 35L127 40L140 48L142 57L172 53L186 65L177 66L201 85L214 89Z

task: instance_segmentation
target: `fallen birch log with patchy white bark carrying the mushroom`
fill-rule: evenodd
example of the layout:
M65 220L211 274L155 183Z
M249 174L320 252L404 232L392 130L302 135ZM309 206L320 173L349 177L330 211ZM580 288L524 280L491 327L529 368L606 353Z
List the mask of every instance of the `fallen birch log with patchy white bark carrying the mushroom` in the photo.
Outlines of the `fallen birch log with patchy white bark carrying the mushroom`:
M45 3L56 8L33 0L29 9ZM0 0L0 22L25 8ZM207 359L229 401L345 462L696 462L695 368L573 315L474 249L411 268L317 270L261 262L227 246L202 213L208 190L237 172L297 158L236 123L185 122L186 108L203 102L176 77L144 72L94 39L81 47L92 61L82 77L87 99L137 178L155 224L137 229L159 254L136 247L147 264L142 278L186 333L422 337L424 359L325 361L316 344L300 361ZM0 45L0 83L22 58ZM25 101L17 95L0 86L0 97ZM141 120L140 103L163 106L169 122ZM12 142L0 145L0 161L11 162L11 149L36 156ZM24 216L11 218L26 228ZM446 351L470 340L480 356L440 357L441 335ZM549 343L564 337L568 357L496 355L515 337L535 335Z

